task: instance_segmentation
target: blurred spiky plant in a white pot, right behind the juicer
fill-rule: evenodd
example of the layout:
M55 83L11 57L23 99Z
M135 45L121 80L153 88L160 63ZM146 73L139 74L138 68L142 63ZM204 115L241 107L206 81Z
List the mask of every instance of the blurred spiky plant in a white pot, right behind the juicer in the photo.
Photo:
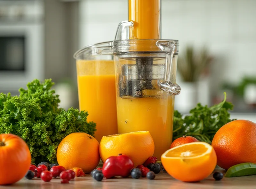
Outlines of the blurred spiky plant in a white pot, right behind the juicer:
M187 113L199 102L199 81L201 81L203 76L209 75L208 68L212 59L206 48L196 52L192 46L188 46L185 52L178 57L177 70L182 81L179 82L181 92L175 97L176 109ZM207 87L208 83L204 83L203 85ZM204 94L207 95L205 98L209 98L209 94L207 94L208 91L204 92Z

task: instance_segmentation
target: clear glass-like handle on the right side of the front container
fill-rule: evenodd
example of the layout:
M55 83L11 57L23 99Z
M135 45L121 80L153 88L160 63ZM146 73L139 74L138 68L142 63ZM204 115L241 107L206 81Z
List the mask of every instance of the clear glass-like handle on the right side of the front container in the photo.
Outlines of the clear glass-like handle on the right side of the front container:
M158 41L156 42L156 46L162 50L163 52L166 52L166 63L165 63L165 72L164 72L164 80L158 81L158 86L163 91L170 93L172 95L180 94L180 86L176 83L172 83L170 81L171 77L171 68L172 68L172 57L175 50L175 43L173 42L163 42Z

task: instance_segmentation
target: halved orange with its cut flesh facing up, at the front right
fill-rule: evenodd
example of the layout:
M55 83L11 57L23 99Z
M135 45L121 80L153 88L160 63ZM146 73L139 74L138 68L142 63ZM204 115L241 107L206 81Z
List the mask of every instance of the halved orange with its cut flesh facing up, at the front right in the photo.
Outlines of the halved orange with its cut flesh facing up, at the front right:
M213 147L206 142L191 142L167 150L161 161L164 169L184 182L196 182L208 177L216 167Z

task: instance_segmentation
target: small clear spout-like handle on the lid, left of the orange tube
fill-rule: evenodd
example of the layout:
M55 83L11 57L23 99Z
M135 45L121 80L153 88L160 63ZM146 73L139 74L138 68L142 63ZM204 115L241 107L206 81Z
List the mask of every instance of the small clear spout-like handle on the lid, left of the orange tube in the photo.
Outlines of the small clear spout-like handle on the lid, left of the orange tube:
M115 41L129 39L130 27L132 26L133 26L132 21L120 22L117 26Z

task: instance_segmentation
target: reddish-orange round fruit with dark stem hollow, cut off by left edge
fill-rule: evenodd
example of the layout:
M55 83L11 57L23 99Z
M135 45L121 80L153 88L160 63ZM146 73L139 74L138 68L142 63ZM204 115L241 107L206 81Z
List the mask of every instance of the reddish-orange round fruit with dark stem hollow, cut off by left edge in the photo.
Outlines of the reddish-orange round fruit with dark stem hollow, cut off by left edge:
M13 134L0 134L0 185L10 185L28 172L31 154L28 145Z

